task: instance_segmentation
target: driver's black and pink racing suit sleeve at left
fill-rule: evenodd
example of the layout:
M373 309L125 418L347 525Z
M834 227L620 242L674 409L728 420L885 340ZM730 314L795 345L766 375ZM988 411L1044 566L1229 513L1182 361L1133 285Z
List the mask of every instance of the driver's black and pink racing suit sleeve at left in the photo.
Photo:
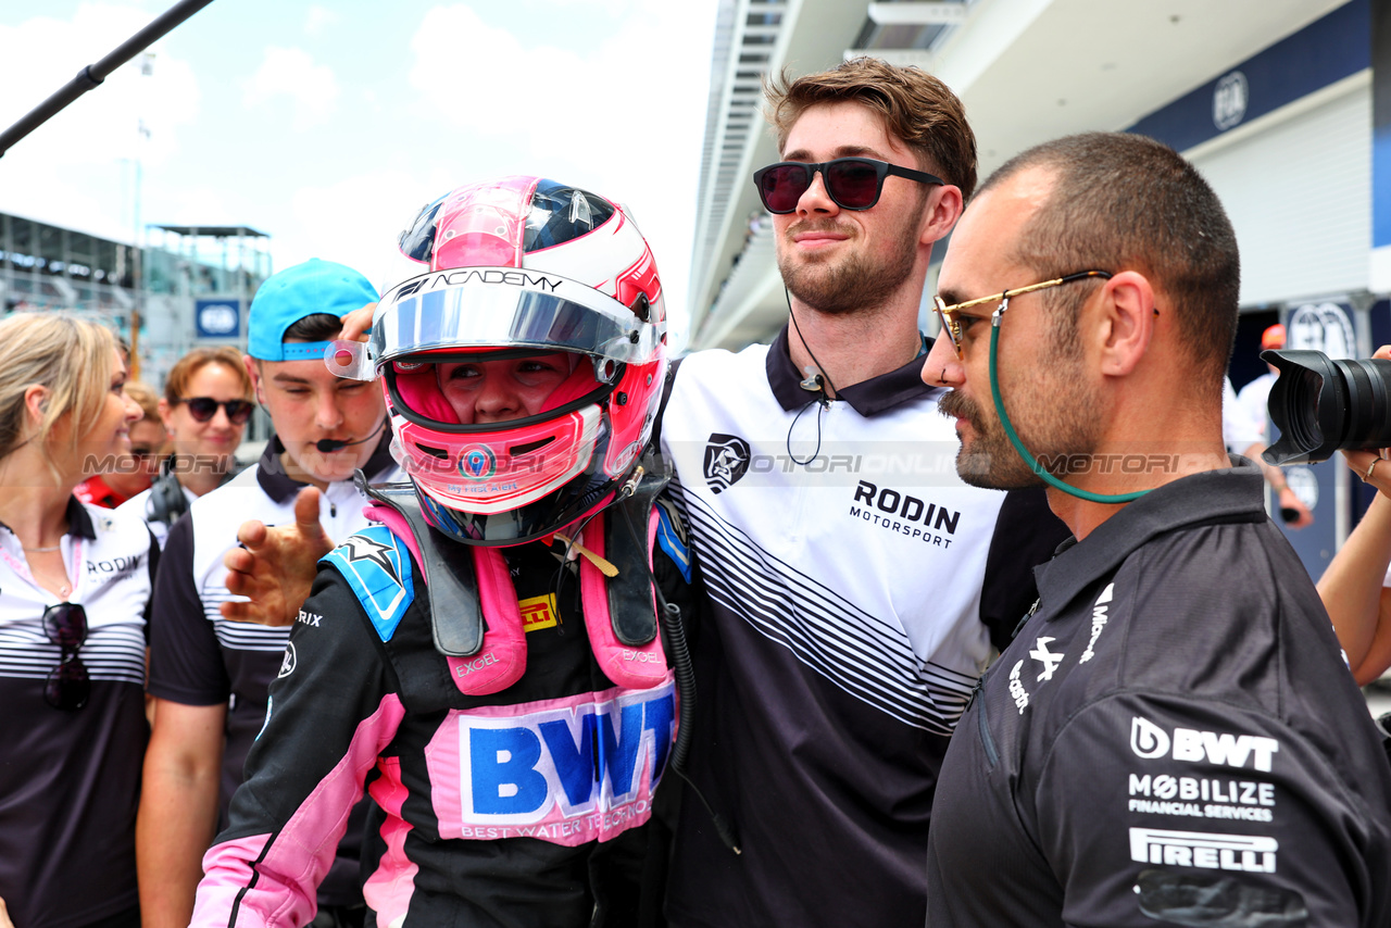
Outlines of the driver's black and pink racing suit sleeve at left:
M320 570L291 633L266 723L203 857L192 925L305 925L348 815L405 707L356 597Z

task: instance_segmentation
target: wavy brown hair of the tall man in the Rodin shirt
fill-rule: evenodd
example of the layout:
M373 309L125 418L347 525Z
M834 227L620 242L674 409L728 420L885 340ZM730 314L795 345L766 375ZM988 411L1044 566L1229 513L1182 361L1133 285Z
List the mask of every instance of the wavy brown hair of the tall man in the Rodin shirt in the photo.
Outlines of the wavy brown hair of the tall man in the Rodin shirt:
M965 121L965 109L947 85L926 71L869 57L797 79L783 68L776 81L765 82L764 96L779 152L808 109L853 102L882 115L889 134L912 149L924 168L957 185L961 199L975 191L975 134Z

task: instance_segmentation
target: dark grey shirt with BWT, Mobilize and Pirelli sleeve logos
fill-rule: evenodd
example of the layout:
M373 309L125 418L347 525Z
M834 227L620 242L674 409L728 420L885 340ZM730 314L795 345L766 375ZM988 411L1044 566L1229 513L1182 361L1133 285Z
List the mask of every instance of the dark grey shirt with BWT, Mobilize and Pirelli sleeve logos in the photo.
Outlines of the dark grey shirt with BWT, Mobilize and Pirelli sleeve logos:
M931 928L1391 920L1391 768L1237 461L1036 570L942 768Z

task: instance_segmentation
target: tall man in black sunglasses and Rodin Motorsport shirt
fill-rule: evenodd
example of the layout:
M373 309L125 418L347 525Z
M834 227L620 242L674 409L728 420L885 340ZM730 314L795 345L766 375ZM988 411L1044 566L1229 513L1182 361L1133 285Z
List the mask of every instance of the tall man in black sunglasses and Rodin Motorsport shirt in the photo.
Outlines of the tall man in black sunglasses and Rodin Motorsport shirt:
M940 391L918 378L932 246L975 185L960 102L860 58L768 104L782 161L754 184L789 323L772 345L683 359L661 424L707 593L704 801L683 803L666 911L682 928L921 925L936 771L989 657L983 622L1008 640L1066 531L1036 491L1002 512L1006 494L957 479Z

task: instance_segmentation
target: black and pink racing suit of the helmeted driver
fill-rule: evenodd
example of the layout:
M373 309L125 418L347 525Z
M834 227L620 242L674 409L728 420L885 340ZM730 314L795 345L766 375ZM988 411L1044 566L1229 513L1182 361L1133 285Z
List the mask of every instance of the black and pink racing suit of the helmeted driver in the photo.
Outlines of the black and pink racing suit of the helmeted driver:
M594 520L611 538L612 512ZM684 541L666 509L652 518L652 572L686 609ZM376 804L363 895L378 925L641 924L665 877L665 845L645 842L666 832L643 825L677 728L670 671L650 689L616 687L591 651L594 602L574 562L533 543L501 550L526 672L469 696L460 680L487 659L437 650L430 597L442 580L426 586L419 545L467 548L415 544L371 526L321 562L231 826L204 857L193 924L307 921L364 785ZM611 583L652 600L647 570Z

